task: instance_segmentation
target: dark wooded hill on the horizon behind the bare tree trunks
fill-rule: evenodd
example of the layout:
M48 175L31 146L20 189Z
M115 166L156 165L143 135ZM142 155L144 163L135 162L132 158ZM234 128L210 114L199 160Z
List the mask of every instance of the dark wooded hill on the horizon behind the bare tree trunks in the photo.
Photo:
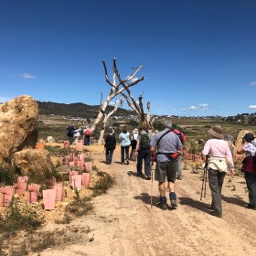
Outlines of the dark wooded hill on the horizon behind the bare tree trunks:
M54 114L54 115L64 115L71 117L81 117L81 118L95 118L98 115L100 110L100 105L90 106L84 103L55 103L55 102L46 102L46 101L37 101L39 107L39 114ZM112 112L113 107L108 106L106 112ZM127 116L133 115L135 112L124 110L118 108L114 115L117 116Z

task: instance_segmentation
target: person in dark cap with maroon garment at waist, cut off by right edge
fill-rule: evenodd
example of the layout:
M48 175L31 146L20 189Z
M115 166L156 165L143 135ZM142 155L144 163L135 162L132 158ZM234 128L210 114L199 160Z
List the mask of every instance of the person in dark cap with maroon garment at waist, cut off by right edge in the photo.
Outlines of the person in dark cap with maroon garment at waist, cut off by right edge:
M241 171L244 172L246 185L249 192L248 208L256 210L256 142L253 133L246 133L237 154L246 154L242 161Z

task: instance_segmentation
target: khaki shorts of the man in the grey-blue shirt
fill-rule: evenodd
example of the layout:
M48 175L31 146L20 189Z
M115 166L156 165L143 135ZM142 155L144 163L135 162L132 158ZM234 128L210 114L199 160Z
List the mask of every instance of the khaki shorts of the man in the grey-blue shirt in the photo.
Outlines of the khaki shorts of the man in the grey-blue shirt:
M178 161L157 162L155 166L155 180L165 182L165 177L168 181L176 181L176 172Z

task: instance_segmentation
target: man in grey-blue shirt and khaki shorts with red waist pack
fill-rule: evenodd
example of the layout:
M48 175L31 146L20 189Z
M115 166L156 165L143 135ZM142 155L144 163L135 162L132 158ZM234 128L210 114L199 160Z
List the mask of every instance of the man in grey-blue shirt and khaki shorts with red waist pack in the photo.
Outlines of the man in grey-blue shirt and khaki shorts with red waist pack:
M177 157L181 154L182 144L176 133L170 133L172 131L172 122L167 121L164 124L164 131L156 133L151 139L150 153L151 155L155 155L157 149L155 179L159 182L160 193L157 207L165 210L167 209L167 198L165 197L165 177L167 177L168 181L171 207L177 207L175 181L178 166Z

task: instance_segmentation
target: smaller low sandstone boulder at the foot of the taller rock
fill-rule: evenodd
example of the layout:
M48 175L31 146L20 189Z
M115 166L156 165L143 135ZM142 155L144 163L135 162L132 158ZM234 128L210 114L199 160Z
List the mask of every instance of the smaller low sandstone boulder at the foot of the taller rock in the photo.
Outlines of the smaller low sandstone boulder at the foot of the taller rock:
M24 149L13 155L16 167L22 176L51 176L55 166L52 164L49 152L45 149Z

